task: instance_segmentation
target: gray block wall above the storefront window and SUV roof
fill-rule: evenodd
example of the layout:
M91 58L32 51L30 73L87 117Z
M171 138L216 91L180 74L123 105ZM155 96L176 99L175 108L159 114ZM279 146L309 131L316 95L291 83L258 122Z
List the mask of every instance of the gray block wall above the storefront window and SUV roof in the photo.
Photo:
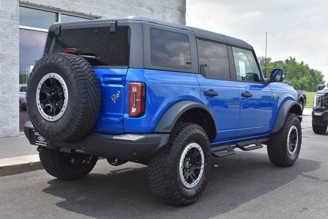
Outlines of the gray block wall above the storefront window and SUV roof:
M19 2L99 18L138 15L186 24L186 0L22 0Z

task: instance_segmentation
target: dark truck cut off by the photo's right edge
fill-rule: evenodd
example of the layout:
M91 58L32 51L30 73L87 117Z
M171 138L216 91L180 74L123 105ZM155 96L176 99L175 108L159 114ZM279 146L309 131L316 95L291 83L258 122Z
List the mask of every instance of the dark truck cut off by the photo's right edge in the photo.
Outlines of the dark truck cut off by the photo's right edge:
M314 97L312 111L312 129L315 133L323 134L328 127L328 84L318 90Z

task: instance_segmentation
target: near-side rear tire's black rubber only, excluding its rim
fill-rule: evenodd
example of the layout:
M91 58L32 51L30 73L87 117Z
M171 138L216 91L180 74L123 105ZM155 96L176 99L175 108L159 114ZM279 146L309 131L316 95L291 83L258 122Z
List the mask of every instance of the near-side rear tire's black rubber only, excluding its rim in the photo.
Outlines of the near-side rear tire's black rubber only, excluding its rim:
M204 170L193 188L182 185L179 177L180 156L190 143L200 145L204 153ZM186 206L197 201L203 193L211 172L210 141L206 131L192 123L178 123L171 132L167 147L149 160L149 183L155 195L163 202Z

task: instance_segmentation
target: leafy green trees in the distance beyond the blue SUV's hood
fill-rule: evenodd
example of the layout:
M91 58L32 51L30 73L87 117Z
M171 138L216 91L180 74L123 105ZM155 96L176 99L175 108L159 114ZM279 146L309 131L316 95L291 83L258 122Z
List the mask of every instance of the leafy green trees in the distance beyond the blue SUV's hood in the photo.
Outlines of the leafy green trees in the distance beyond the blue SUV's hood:
M270 57L267 57L267 66L265 67L265 57L258 57L265 77L270 77L270 72L275 68L282 68L285 73L286 80L290 81L296 90L316 91L319 84L323 84L321 71L312 69L308 64L297 62L295 58L289 57L284 61L272 62Z

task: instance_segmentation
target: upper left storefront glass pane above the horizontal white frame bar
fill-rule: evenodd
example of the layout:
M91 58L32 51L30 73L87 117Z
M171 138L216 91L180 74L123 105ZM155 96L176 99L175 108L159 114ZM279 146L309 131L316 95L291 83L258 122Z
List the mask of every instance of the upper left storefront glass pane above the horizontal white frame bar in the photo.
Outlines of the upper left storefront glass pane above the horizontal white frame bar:
M19 7L19 25L49 29L57 21L57 13L34 8Z

